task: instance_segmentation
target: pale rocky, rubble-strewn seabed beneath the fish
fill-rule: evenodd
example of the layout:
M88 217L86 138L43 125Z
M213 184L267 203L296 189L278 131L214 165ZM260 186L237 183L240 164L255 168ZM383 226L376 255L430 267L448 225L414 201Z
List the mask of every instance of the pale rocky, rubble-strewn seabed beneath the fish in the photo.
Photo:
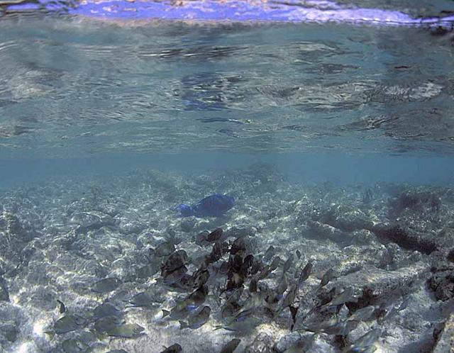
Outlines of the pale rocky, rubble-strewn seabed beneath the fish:
M173 210L215 192L236 198L223 217L180 218ZM180 329L162 309L172 310L196 288L167 286L160 264L168 254L154 250L171 241L187 253L184 267L192 275L214 247L198 235L216 228L228 250L207 267L209 320ZM254 324L229 331L219 328L229 320L222 265L238 243L260 270L279 258L256 291L249 270L236 305L250 308L250 298L260 298L248 313ZM257 164L202 175L141 170L16 187L0 192L0 345L21 353L153 353L177 343L189 353L221 352L238 338L235 352L450 352L453 247L451 186L303 185ZM309 262L292 320L282 303ZM144 274L150 264L155 273ZM101 279L115 283L99 289ZM345 290L352 295L334 306ZM133 307L142 292L150 303ZM143 330L131 338L99 332L95 309L107 302L121 313L116 325ZM364 308L370 315L358 314ZM57 320L68 315L80 321L60 327Z

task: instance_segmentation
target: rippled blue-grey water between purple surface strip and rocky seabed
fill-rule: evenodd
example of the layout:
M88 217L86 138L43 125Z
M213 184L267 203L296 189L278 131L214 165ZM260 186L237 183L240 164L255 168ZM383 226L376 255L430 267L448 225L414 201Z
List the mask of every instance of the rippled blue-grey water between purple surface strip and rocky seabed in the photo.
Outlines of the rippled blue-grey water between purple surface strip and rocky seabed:
M3 16L1 181L265 160L309 181L445 183L453 56L418 28Z

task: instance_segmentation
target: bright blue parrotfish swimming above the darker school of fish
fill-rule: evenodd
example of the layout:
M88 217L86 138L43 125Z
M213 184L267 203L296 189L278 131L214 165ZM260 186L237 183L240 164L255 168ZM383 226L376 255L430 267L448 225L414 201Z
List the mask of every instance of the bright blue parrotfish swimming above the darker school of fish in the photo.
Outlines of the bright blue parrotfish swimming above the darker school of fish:
M202 198L194 206L182 203L175 207L182 217L195 215L198 218L203 217L220 217L228 210L235 206L235 198L223 194L213 194Z

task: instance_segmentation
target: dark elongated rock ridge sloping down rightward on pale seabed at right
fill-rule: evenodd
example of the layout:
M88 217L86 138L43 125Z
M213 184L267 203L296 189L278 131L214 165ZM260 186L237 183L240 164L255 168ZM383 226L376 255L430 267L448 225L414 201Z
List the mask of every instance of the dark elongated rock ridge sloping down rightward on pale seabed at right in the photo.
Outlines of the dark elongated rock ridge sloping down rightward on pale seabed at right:
M372 228L382 242L395 242L406 250L417 250L423 254L431 254L438 249L432 236L410 230L400 223L380 223Z

